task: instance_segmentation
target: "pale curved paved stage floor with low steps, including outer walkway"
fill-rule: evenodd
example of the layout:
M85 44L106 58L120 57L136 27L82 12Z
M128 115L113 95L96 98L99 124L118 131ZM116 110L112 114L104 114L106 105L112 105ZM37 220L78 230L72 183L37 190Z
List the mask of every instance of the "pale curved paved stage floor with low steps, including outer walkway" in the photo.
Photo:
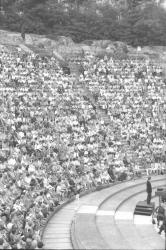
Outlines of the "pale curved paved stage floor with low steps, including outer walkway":
M165 179L159 180L161 176L153 179L154 188L165 184ZM77 248L138 250L155 249L157 244L156 249L164 249L164 239L156 233L151 221L145 216L140 223L142 217L133 217L136 203L144 199L143 179L84 196L79 204L74 201L53 216L44 231L44 248L72 249L70 229L74 219L72 234Z

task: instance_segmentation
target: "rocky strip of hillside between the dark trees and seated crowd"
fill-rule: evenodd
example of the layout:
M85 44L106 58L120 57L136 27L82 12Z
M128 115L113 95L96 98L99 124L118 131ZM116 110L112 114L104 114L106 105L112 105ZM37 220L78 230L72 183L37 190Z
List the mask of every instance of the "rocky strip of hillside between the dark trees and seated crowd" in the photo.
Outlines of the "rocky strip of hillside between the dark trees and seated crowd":
M140 52L123 42L111 40L87 40L82 43L74 43L70 37L57 36L54 40L44 35L26 34L23 41L20 33L0 30L0 44L6 48L21 48L24 52L34 52L41 55L56 56L69 60L80 57L84 53L104 57L108 55L116 58L144 57L156 62L166 62L166 47L144 46Z

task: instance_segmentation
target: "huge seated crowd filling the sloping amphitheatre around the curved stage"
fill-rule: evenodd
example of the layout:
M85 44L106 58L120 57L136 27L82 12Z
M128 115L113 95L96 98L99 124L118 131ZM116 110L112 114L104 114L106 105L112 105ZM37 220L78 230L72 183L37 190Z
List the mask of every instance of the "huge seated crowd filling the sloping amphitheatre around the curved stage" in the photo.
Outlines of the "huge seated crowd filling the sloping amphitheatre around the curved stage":
M55 58L0 51L0 249L42 248L50 212L82 190L164 171L160 67L90 55L82 64L76 81Z

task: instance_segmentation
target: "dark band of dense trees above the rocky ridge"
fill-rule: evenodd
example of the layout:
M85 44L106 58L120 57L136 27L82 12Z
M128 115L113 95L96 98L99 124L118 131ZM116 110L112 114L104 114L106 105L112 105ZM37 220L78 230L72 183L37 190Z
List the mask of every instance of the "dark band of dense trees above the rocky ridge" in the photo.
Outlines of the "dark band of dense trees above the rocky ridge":
M21 32L24 24L27 33L70 36L75 42L166 45L165 10L153 1L125 2L125 7L116 7L99 6L95 0L1 0L0 28Z

